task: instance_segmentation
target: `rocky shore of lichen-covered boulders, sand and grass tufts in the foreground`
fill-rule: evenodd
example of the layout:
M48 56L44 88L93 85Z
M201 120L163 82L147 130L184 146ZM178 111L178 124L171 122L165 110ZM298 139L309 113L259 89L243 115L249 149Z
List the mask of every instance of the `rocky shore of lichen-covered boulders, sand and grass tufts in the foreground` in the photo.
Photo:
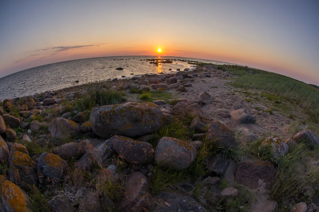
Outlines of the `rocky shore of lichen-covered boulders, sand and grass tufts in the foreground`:
M0 211L319 211L318 132L234 77L205 65L4 99Z

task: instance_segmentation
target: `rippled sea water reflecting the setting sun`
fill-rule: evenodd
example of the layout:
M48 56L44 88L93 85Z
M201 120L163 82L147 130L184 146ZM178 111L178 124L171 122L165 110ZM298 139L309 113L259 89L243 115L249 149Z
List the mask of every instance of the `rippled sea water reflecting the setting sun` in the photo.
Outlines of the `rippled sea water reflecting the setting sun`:
M159 58L155 56L116 56L98 57L81 60L57 62L16 72L0 78L0 99L22 97L37 92L57 90L74 85L75 81L84 84L96 80L104 80L121 76L132 77L131 73L169 73L168 69L176 71L192 68L187 62L163 63L159 66L150 64L144 59ZM199 62L221 63L218 61L184 58L161 57L168 59L191 60ZM116 70L122 67L123 70Z

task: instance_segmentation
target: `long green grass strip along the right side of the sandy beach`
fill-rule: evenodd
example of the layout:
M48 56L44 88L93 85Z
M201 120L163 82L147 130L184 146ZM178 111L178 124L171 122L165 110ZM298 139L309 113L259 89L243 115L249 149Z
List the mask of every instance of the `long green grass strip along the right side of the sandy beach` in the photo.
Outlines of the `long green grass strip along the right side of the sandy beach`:
M234 86L274 92L302 106L314 123L319 122L319 90L315 87L290 77L258 69L254 69L257 75L250 74L249 69L234 68L229 71L240 76L234 79ZM277 104L280 106L280 101L277 101Z

